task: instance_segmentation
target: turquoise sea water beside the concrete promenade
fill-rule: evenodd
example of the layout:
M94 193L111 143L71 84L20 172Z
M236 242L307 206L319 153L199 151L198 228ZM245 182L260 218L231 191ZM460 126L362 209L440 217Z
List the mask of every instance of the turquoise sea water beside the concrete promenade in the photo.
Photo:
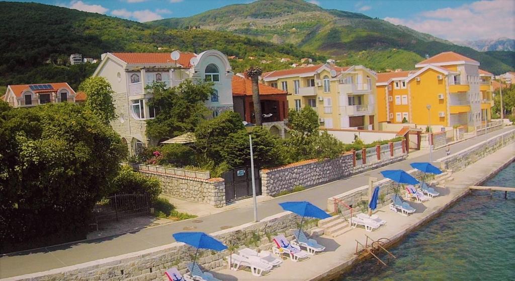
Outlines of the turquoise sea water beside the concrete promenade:
M483 185L515 187L515 162ZM339 280L515 280L515 192L473 192L391 252L388 267L367 260Z

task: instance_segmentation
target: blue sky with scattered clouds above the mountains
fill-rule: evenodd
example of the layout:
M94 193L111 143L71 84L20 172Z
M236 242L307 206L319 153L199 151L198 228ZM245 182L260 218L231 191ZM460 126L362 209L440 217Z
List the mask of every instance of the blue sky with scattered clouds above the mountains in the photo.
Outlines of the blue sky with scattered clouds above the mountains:
M29 1L24 1L29 2ZM190 16L250 0L30 0L140 22ZM513 0L310 0L326 9L361 12L449 40L515 38Z

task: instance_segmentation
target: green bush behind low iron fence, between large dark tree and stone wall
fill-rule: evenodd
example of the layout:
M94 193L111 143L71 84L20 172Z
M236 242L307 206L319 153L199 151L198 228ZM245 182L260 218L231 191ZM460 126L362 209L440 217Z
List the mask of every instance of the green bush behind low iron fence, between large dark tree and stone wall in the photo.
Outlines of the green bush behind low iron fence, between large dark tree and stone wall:
M150 202L155 203L161 193L161 184L154 177L146 177L134 172L131 167L123 166L113 180L112 194L148 194Z

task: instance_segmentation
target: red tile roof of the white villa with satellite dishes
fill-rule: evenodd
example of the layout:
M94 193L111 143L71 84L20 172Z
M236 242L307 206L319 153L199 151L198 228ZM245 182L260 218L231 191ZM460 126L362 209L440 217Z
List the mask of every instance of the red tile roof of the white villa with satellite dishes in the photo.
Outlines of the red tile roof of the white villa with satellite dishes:
M117 58L129 64L159 64L159 63L174 63L175 61L170 58L170 53L111 53ZM190 68L190 60L197 55L194 53L181 52L181 56L177 63L185 68Z

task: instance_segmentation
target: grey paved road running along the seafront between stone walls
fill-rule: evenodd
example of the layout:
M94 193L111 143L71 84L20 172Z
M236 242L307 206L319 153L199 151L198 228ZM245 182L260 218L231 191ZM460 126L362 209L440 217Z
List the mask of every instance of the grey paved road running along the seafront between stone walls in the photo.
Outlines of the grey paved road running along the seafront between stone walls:
M451 152L464 150L476 143L490 137L505 133L513 127L506 127L493 131L485 136L462 141L451 145ZM433 153L433 159L445 156L445 149L441 148ZM408 159L391 164L381 169L355 175L349 178L336 180L328 184L316 186L302 192L292 193L272 200L258 203L259 217L264 218L282 211L278 205L284 201L307 200L313 204L327 208L327 199L336 194L352 190L368 184L368 177L382 178L379 173L382 170L402 169L410 170L409 163L427 161L428 156L424 152L411 154ZM222 227L237 226L253 220L252 205L242 205L239 208L200 217L195 220L180 221L163 226L144 228L132 233L89 240L78 243L45 247L37 251L27 251L0 257L0 278L17 276L27 273L45 271L78 263L93 261L101 258L122 255L141 251L151 247L174 242L171 234L184 230L196 230L212 233ZM193 228L195 227L195 228ZM193 229L192 229L193 228Z

